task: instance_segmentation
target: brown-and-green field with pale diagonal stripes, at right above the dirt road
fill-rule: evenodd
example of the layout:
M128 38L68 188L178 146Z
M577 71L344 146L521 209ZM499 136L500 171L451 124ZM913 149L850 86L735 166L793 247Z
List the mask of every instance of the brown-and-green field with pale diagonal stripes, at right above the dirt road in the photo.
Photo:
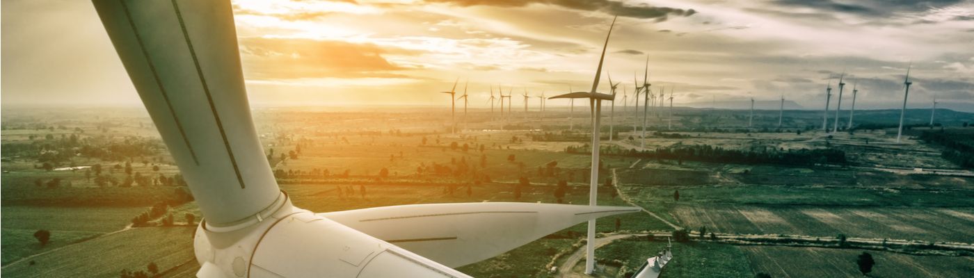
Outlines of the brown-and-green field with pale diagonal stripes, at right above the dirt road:
M774 208L748 205L678 205L680 225L739 234L974 242L971 208Z

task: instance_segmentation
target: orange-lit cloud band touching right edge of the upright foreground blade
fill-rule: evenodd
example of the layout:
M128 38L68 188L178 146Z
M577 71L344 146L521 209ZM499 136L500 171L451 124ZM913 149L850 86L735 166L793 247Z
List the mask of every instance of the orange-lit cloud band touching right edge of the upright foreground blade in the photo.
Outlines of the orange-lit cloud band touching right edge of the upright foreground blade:
M244 74L248 79L400 77L391 72L405 68L383 57L390 52L413 51L342 41L241 39Z

